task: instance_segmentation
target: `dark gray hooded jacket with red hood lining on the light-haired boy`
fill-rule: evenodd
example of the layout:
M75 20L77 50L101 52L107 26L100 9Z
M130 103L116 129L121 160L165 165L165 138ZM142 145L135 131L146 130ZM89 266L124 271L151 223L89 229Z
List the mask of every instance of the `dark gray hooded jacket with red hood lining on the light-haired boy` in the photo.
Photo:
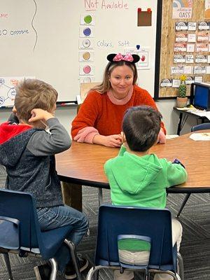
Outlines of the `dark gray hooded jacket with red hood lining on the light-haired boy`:
M71 146L57 118L47 121L50 133L11 122L0 125L0 164L8 174L6 188L32 193L36 207L63 205L55 154Z

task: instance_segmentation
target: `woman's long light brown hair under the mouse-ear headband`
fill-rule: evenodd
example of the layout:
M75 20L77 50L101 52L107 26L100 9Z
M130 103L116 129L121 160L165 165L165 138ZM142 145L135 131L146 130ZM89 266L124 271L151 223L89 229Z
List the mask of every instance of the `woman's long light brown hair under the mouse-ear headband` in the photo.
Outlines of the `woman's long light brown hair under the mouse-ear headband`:
M132 62L127 62L124 60L120 60L119 62L109 62L106 65L106 69L104 71L104 78L101 84L96 85L95 87L93 87L90 91L92 90L96 90L99 93L104 93L107 92L108 90L110 90L111 88L111 83L109 81L111 72L113 71L113 69L115 69L118 66L123 66L123 65L127 65L130 67L130 69L132 69L133 73L134 73L134 80L133 80L133 85L135 85L137 83L137 78L138 78L138 74L137 74L137 66L136 64L132 63ZM89 91L89 92L90 92Z

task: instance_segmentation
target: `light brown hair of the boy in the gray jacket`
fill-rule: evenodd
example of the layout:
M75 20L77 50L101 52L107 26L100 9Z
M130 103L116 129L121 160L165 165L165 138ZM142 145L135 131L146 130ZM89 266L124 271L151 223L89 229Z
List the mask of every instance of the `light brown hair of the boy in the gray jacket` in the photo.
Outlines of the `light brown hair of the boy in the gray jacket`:
M19 120L28 123L31 110L38 108L46 111L53 109L57 101L57 91L42 80L26 79L15 87L15 109Z

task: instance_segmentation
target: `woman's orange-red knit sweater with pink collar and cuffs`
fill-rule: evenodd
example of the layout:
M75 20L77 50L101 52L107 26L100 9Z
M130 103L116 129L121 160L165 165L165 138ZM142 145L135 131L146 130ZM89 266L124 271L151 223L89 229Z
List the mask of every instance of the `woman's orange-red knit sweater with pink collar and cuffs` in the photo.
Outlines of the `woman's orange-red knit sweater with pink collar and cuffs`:
M72 139L76 137L80 130L85 129L85 127L92 127L90 134L93 133L94 135L97 134L97 131L104 136L119 134L122 131L122 121L125 111L132 106L139 105L148 105L157 109L151 95L137 85L134 85L131 99L124 105L113 104L107 93L90 92L87 94L78 115L72 122ZM166 133L163 123L161 127Z

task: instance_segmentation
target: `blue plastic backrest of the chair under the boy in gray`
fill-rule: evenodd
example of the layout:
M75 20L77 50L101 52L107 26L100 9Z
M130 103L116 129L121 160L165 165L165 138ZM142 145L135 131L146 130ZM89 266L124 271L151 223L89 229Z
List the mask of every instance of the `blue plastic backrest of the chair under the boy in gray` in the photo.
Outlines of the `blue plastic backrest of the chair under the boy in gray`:
M19 225L11 224L10 227L20 227L19 232L16 232L13 236L14 231L8 230L7 241L10 244L10 240L14 237L19 240L17 242L17 248L25 251L32 251L38 253L39 245L41 242L41 231L38 225L38 218L36 213L35 201L31 194L23 193L15 190L6 190L0 188L0 246L6 248L6 244L2 244L1 236L5 235L5 224L8 223L9 219L16 219L19 221ZM12 221L12 220L11 220ZM11 236L10 236L11 235ZM32 248L32 250L31 250Z

